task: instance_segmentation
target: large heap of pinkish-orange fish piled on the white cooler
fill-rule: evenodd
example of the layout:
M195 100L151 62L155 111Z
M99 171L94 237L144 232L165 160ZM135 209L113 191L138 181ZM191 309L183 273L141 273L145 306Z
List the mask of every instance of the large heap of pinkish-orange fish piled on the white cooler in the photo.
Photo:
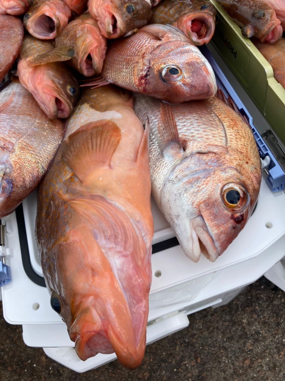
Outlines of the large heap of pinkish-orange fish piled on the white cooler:
M135 368L146 343L151 192L185 255L213 262L260 190L252 131L196 46L212 37L215 8L0 0L0 13L0 218L39 185L35 233L51 307L81 360L115 352Z

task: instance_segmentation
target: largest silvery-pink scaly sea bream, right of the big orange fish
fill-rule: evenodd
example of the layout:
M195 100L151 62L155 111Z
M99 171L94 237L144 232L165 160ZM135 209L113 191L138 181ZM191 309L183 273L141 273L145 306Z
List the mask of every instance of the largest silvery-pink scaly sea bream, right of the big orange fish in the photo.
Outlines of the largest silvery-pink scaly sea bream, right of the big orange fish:
M250 127L217 97L166 105L135 95L150 121L151 191L186 256L215 261L255 207L260 156Z

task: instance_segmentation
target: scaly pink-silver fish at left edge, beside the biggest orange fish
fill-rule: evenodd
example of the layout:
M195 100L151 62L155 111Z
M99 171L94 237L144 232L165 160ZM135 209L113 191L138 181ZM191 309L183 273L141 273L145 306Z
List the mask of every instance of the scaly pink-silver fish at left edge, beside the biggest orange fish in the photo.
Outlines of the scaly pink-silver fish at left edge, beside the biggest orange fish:
M18 80L0 91L0 218L37 187L63 132L64 123L48 120Z

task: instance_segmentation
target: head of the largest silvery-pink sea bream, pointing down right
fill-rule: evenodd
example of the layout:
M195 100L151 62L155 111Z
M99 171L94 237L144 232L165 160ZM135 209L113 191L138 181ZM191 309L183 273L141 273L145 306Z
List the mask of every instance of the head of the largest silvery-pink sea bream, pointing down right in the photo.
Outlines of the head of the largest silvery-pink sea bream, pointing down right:
M204 155L199 156L187 158L172 171L161 205L186 256L197 262L202 253L214 262L252 214L260 167L254 168L254 178L246 168L220 167L215 157L204 161Z

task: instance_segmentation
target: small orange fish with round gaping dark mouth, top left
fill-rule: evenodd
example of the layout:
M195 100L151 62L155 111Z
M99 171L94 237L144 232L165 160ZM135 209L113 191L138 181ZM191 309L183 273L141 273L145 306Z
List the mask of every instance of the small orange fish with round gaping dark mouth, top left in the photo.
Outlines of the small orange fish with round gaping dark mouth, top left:
M35 0L24 16L24 26L33 37L51 40L68 24L71 14L64 0Z

